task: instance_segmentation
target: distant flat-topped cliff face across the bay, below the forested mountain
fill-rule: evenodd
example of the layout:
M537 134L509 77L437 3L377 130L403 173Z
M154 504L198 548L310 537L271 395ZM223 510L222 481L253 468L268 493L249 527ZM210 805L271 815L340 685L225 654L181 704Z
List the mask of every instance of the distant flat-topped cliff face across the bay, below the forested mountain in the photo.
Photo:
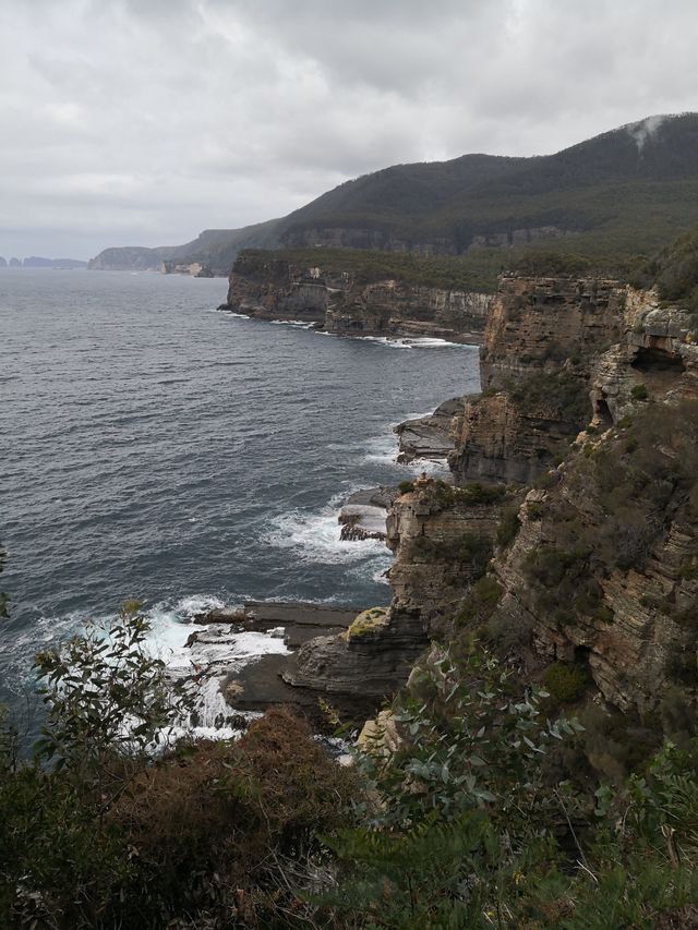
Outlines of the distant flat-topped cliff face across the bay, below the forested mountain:
M317 323L345 336L437 337L479 341L491 294L420 287L399 280L365 283L351 273L242 255L224 309L265 319Z

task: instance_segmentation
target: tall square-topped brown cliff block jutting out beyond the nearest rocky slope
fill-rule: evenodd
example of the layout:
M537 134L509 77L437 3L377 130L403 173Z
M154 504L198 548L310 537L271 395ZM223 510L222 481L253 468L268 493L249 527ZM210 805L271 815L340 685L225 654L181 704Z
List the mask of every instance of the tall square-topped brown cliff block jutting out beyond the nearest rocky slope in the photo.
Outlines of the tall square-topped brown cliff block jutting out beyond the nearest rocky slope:
M483 394L454 423L457 481L530 483L589 419L591 362L621 338L627 289L504 276L481 350Z

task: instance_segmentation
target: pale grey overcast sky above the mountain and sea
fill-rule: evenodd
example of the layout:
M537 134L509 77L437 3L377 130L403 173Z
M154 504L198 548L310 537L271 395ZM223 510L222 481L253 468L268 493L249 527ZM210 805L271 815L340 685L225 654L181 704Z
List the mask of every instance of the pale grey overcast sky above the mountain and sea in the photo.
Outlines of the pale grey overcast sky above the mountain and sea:
M0 0L0 255L179 244L697 110L697 39L695 0Z

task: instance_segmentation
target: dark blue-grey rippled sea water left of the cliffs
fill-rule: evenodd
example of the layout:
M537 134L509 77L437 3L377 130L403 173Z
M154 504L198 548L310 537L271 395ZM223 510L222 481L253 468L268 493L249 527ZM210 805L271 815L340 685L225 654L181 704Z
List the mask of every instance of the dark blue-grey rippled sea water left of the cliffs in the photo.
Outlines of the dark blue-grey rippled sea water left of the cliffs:
M477 350L234 317L226 286L0 271L0 698L129 597L160 624L216 599L388 600L389 554L340 542L337 509L410 474L392 424L476 390Z

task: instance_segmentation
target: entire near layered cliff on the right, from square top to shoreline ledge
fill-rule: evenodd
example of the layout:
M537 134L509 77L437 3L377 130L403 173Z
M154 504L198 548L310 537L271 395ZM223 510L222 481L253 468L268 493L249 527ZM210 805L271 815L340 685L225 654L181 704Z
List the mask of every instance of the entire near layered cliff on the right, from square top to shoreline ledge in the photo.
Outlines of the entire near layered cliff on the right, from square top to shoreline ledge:
M465 628L528 675L581 671L623 711L693 713L695 319L612 281L505 277L481 358L485 391L448 407L456 486L394 503L393 602L342 687L396 687L431 636ZM337 649L324 672L305 649L299 684L341 675Z

